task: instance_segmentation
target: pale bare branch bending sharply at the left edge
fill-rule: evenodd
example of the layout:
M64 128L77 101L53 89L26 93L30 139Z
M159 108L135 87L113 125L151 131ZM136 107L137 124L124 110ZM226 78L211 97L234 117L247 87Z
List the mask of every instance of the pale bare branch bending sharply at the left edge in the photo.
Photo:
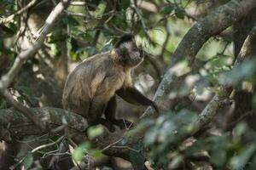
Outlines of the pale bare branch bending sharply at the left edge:
M32 3L36 3L36 1L32 1ZM28 6L30 7L32 3L29 3ZM41 128L45 128L45 123L42 122L42 120L38 116L36 116L31 110L29 110L26 106L21 105L15 99L13 99L12 95L9 94L9 91L7 90L7 88L9 88L9 84L14 81L15 77L20 72L20 69L22 65L26 62L26 59L29 59L30 57L32 57L34 54L38 52L38 49L41 48L41 46L44 43L44 39L46 35L54 26L56 20L60 18L62 11L65 8L67 8L69 3L70 3L70 0L63 0L61 1L61 3L58 3L55 6L55 8L52 10L47 20L45 21L45 24L43 26L42 31L40 32L38 39L34 43L32 43L29 48L27 48L25 51L22 51L20 52L20 54L18 54L18 56L15 59L14 65L12 65L9 72L6 75L3 75L3 77L1 77L1 80L0 80L0 94L2 94L10 102L10 104L14 105L15 109L20 111L27 118L31 119L32 122L34 122L36 125L38 125L38 127L41 127Z

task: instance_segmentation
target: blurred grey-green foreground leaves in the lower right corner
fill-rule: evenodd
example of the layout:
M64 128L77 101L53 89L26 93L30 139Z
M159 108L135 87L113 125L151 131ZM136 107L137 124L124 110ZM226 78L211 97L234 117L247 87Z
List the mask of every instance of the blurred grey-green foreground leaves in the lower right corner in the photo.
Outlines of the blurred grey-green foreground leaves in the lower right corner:
M176 168L186 160L193 160L202 150L209 154L209 162L214 169L253 169L255 167L255 133L247 123L237 124L233 137L230 133L211 135L199 139L183 141L189 134L190 123L195 120L191 111L180 111L168 116L160 116L145 135L153 166ZM247 144L244 144L247 141ZM171 160L171 161L170 161ZM194 161L194 164L198 162Z

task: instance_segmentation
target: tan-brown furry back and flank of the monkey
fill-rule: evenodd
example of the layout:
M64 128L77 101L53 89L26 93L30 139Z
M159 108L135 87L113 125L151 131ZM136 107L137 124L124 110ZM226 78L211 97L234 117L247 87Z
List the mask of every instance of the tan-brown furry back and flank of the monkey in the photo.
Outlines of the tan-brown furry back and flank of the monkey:
M125 77L124 69L113 61L110 53L84 59L67 77L62 96L64 109L85 117L94 114L90 112L95 112L95 107L103 110Z

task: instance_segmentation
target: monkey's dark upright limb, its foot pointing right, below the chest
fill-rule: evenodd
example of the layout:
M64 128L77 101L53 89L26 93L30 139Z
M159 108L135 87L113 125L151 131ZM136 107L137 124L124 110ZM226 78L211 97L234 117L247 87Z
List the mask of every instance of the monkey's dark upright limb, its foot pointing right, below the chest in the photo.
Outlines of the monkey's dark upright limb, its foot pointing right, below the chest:
M120 128L130 127L131 122L125 120L125 119L116 119L115 118L115 112L116 112L116 97L115 95L108 101L107 108L105 110L105 117L110 122L113 122L113 124L119 126Z

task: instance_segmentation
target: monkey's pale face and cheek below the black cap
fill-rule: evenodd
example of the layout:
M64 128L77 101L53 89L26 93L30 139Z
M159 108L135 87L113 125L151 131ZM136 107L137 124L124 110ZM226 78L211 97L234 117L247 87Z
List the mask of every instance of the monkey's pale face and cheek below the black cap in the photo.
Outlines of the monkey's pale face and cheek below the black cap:
M119 56L124 65L134 67L143 62L143 51L135 42L124 42L119 46Z

